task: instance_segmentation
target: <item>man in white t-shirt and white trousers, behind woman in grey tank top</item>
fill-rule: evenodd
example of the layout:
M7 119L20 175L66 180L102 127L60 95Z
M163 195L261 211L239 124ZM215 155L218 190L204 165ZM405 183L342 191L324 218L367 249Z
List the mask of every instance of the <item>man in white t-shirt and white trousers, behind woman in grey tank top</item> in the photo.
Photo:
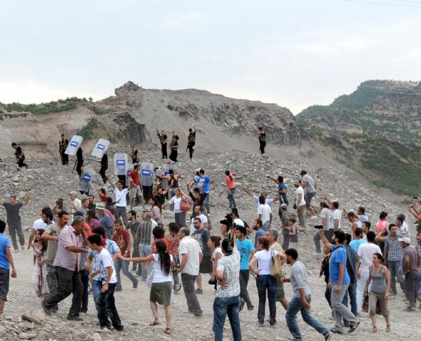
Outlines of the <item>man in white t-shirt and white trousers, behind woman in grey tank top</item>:
M358 248L357 261L357 312L362 310L362 301L364 300L364 290L370 275L370 266L372 265L372 255L375 253L382 254L379 245L374 243L375 233L373 231L367 232L367 243L361 244ZM361 260L361 262L360 262Z

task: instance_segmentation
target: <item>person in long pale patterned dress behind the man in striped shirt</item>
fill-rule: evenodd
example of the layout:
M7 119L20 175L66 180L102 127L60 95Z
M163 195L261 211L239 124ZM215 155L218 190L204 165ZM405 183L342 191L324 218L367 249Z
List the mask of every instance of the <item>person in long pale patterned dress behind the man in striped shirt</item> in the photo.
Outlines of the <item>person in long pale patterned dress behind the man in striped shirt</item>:
M36 230L34 243L32 243L32 248L34 248L34 272L32 273L32 285L36 295L39 299L44 299L49 295L49 286L47 285L47 271L45 265L44 254L47 249L47 241L41 239L41 235L44 233L44 229L40 228Z

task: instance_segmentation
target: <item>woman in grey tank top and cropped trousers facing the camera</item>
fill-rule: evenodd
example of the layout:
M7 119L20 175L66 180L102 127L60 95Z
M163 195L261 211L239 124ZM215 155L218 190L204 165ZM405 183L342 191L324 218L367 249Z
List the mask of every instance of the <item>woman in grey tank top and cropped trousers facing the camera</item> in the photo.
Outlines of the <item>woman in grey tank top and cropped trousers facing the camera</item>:
M386 332L390 332L390 313L387 309L387 300L390 294L390 276L385 265L383 265L383 256L380 253L372 255L372 266L370 267L370 276L365 285L365 295L368 295L368 306L370 307L370 318L372 322L372 332L377 332L376 307L379 302L380 310L386 320ZM368 287L370 292L368 292Z

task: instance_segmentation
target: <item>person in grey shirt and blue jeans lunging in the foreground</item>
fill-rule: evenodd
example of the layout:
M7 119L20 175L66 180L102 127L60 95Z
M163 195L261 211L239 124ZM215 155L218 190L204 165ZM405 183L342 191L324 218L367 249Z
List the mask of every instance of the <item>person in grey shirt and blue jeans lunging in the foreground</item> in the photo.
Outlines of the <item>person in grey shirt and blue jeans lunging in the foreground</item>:
M302 340L301 332L297 325L297 314L301 316L305 323L313 327L325 337L325 341L332 338L330 332L324 325L316 320L310 313L311 292L307 284L307 269L305 265L298 261L297 250L290 248L285 251L286 261L291 266L290 278L283 278L283 282L290 282L293 287L294 297L288 304L285 320L293 335L294 340Z

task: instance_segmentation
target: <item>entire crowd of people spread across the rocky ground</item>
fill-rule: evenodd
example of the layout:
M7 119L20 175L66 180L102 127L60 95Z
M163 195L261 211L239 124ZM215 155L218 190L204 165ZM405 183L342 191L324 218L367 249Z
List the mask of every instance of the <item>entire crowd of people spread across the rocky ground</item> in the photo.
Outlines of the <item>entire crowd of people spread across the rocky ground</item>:
M192 126L188 133L190 158L193 158L196 131ZM259 133L260 152L265 153L263 128ZM166 133L158 132L158 136L162 158L166 158ZM175 145L178 140L173 133L171 144ZM59 151L63 165L68 163L62 153L66 143L69 141L62 136ZM104 170L109 187L96 190L97 197L92 193L78 195L71 190L69 205L64 205L63 199L56 200L54 207L46 205L41 210L41 217L34 221L27 248L34 251L32 283L47 315L56 313L59 303L72 294L67 319L80 321L91 309L88 307L91 293L98 313L98 331L123 330L124 321L118 314L114 298L114 292L123 290L121 270L133 288L138 287L140 280L150 288L151 326L161 323L158 305L163 305L166 334L172 332L171 303L181 287L188 312L200 319L203 310L199 298L203 294L203 282L214 285L215 340L223 340L226 315L233 339L241 340L240 312L244 307L254 310L248 294L251 278L255 278L258 289L258 325L263 326L265 322L276 325L276 302L280 302L285 309L291 340L302 340L298 312L303 322L325 340L330 340L334 333L342 334L345 327L348 332L355 332L362 311L370 314L372 332L377 332L376 315L379 313L385 317L386 331L390 332L387 302L390 295L397 295L397 283L408 301L407 312L415 311L417 300L421 302L421 206L418 198L414 198L408 208L417 219L415 241L410 238L410 225L403 214L389 223L387 213L381 212L376 228L372 229L374 224L365 214L364 207L355 213L340 210L338 200L331 200L327 195L318 207L314 207L312 201L318 186L308 172L302 170L294 181L293 195L281 175L269 176L277 186L275 198L268 198L268 193L255 195L248 188L242 188L257 205L255 220L248 225L240 218L235 202L235 174L226 170L224 188L230 212L220 220L219 233L215 223L210 221L210 191L215 178L205 170L197 169L193 172L193 181L187 175L184 187L181 173L172 169L168 175L157 171L151 196L144 200L138 166L141 156L134 146L131 156L136 164L128 175L128 186L121 178L115 183ZM174 148L171 148L169 158L176 162ZM0 201L6 209L15 252L19 252L16 233L24 250L19 212L29 200L28 193L22 203L16 202L15 196L9 198L9 203ZM142 208L140 213L136 205ZM149 209L146 209L147 205ZM171 211L169 215L167 208ZM275 221L275 210L279 223ZM325 298L334 321L331 328L311 314L308 274L306 265L300 262L299 233L313 229L306 221L308 215L320 216L320 225L314 226L314 252L321 265L320 276L325 278ZM349 229L341 224L343 215L350 222ZM9 238L3 234L5 229L6 222L0 220L0 313L9 290L9 277L17 275ZM305 245L305 248L311 246ZM285 264L290 265L289 276L285 275ZM293 290L289 300L285 296L286 283L290 283Z

